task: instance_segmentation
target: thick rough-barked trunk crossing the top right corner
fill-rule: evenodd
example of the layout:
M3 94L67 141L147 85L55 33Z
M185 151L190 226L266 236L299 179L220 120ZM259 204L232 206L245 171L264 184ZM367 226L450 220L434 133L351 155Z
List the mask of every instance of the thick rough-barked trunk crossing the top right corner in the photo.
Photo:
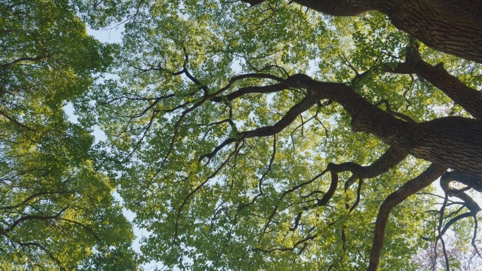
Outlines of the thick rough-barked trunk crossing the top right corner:
M244 0L252 5L261 0ZM335 16L380 11L398 29L427 46L482 63L482 1L467 0L296 0Z

